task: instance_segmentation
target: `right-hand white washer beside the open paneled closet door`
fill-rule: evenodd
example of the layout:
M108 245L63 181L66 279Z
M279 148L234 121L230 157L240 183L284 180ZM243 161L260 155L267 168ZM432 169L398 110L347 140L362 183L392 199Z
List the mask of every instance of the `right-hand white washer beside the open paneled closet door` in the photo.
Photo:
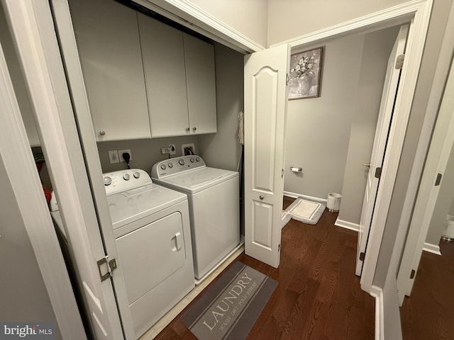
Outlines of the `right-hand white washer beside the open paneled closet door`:
M210 168L191 155L157 162L151 176L155 183L187 193L198 284L240 245L238 172Z

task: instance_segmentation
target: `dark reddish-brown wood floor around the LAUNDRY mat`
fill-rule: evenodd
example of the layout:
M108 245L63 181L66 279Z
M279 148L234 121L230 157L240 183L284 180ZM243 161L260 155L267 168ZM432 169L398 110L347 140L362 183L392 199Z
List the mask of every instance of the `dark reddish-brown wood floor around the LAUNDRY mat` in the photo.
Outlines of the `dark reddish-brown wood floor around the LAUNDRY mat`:
M317 225L291 220L277 269L238 256L279 283L247 339L374 339L375 299L355 276L357 233L334 226L336 217L326 210ZM187 308L155 339L196 339L179 321Z

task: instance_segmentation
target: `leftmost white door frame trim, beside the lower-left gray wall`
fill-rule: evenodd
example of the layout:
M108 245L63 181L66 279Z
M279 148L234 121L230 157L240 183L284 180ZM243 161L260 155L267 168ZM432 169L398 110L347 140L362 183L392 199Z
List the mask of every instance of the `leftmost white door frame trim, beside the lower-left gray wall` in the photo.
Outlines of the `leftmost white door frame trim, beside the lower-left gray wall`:
M0 45L0 157L64 339L87 339Z

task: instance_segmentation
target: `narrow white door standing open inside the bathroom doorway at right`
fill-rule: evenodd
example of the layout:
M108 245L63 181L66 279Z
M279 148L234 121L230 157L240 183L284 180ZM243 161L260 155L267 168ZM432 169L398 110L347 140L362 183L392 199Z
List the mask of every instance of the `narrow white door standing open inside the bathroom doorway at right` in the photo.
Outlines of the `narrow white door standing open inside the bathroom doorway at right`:
M384 79L382 101L378 114L377 128L375 130L375 140L370 156L369 173L367 174L366 190L362 203L360 220L360 232L358 233L358 247L356 250L356 270L355 273L361 276L362 264L365 259L367 248L367 238L369 237L370 222L374 212L375 198L380 183L380 172L383 166L384 152L387 145L389 125L391 124L392 112L394 110L394 100L399 86L400 69L395 67L399 55L404 54L406 36L409 26L404 25L400 28L394 47L389 55L386 78Z

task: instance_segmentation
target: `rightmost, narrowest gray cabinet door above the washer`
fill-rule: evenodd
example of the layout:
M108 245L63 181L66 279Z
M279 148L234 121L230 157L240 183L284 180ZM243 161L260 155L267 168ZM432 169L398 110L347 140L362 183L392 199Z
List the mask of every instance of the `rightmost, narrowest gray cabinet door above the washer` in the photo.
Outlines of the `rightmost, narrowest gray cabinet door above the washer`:
M187 102L191 134L216 132L214 47L184 33Z

